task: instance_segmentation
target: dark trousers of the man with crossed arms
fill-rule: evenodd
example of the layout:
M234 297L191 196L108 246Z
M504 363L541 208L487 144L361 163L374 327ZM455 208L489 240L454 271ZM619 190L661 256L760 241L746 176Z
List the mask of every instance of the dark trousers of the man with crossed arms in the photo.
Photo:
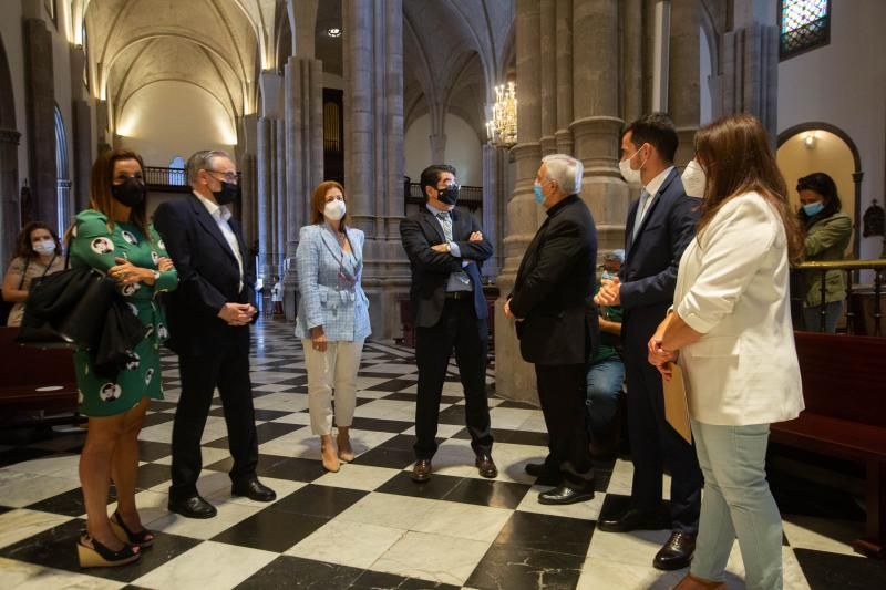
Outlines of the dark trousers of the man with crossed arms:
M486 401L486 320L478 320L474 300L446 299L440 321L431 328L415 329L415 361L419 365L419 395L415 403L415 456L430 459L436 453L440 396L452 349L464 387L464 420L474 453L492 452L490 404Z

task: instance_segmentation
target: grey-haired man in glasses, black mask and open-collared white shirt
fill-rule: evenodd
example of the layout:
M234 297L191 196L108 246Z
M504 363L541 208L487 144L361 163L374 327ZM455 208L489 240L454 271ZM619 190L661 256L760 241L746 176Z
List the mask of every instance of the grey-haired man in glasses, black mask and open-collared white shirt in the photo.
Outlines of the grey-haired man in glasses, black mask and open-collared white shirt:
M271 501L276 494L256 476L258 438L249 381L255 266L227 208L238 195L237 172L226 153L197 152L187 174L194 193L164 203L154 214L179 277L179 290L167 301L168 345L178 353L182 376L169 510L212 518L216 509L197 493L197 477L203 468L200 437L216 387L234 457L231 494L258 501Z

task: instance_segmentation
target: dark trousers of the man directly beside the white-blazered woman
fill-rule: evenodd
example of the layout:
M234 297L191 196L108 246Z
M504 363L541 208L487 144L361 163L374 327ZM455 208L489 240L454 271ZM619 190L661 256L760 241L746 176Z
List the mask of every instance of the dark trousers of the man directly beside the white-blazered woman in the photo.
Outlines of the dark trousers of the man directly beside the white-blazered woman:
M651 334L650 334L651 337ZM646 346L629 346L625 354L628 375L628 435L633 460L631 505L645 510L661 506L664 464L671 472L671 519L674 530L696 532L704 478L696 449L664 420L661 375L649 364Z

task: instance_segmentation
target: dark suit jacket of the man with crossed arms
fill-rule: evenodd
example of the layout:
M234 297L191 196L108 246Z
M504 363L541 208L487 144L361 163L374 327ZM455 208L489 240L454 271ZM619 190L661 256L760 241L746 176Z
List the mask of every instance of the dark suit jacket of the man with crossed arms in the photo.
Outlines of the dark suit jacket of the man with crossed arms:
M486 319L486 298L480 277L481 263L492 256L492 244L486 236L480 241L468 241L471 234L482 231L480 222L471 214L455 209L452 216L452 238L459 246L462 258L447 252L435 252L431 246L443 244L443 228L427 207L422 205L416 215L400 221L400 237L412 268L410 299L415 325L430 328L440 321L446 298L446 282L452 272L464 270L474 287L474 312L478 320ZM462 261L470 263L462 268Z

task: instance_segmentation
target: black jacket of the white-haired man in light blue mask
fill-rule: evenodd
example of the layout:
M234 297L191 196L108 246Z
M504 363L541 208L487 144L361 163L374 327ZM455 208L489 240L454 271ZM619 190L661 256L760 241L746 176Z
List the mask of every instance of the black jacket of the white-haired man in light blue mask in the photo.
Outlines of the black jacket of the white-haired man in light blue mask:
M536 364L581 364L597 349L594 303L597 228L587 205L571 195L547 210L514 282L511 311L519 351Z

